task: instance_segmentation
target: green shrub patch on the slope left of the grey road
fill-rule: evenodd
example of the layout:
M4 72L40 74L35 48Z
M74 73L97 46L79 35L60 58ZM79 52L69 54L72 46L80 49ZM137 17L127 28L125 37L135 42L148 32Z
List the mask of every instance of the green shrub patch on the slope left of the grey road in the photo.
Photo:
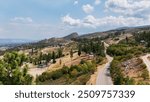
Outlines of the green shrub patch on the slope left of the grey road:
M36 79L37 84L43 85L85 85L90 75L96 70L96 64L85 61L71 67L64 66L53 72L44 72Z

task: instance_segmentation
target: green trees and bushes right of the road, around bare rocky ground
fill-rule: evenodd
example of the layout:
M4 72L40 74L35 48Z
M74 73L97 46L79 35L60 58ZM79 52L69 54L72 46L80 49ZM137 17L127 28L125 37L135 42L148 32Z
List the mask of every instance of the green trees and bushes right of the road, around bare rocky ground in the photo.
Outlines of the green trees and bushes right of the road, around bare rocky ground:
M121 68L121 63L135 57L138 58L145 52L147 52L146 48L140 46L134 37L126 38L125 40L119 42L119 44L113 44L107 48L107 53L114 57L110 65L110 74L115 85L139 84L139 82L137 83L132 77L124 74L124 69ZM144 80L148 79L149 74L147 74L148 71L146 67L143 65L140 68L144 70L141 70L142 75L139 77Z

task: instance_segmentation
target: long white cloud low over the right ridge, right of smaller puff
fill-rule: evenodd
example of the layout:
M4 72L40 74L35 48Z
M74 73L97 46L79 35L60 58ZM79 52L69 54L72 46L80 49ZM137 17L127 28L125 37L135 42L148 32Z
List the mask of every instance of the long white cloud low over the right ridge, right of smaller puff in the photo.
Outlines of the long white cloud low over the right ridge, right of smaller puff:
M144 24L143 19L135 17L123 17L123 16L106 16L104 18L95 18L92 15L89 15L84 18L83 24L88 24L91 27L100 27L100 26L133 26L136 24Z

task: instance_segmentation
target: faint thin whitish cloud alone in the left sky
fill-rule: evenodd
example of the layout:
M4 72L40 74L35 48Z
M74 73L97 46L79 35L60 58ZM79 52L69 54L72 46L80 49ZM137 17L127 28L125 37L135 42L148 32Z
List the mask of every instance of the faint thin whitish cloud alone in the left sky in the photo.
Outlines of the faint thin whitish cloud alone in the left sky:
M32 23L33 20L30 17L14 17L11 19L13 23Z

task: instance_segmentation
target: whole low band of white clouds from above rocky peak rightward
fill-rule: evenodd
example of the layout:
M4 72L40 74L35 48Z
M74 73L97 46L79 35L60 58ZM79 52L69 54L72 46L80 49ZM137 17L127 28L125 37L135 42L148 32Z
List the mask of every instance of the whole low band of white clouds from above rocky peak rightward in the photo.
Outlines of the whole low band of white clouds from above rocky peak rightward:
M103 18L95 18L92 15L88 15L82 20L80 19L73 19L70 16L65 16L65 20L63 22L70 26L78 26L78 27L119 27L119 26L134 26L134 25L143 25L145 24L145 20L143 18L136 18L136 17L123 17L123 16L106 16ZM68 18L66 20L66 18Z

